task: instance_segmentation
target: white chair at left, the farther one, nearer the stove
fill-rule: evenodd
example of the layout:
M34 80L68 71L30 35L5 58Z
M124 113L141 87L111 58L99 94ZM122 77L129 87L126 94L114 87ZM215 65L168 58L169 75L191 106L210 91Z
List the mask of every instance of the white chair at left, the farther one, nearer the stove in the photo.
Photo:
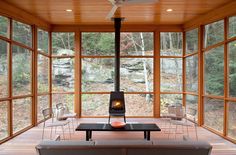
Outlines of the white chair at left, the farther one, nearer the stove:
M62 119L62 120L71 118L72 127L73 127L73 129L75 129L74 128L74 121L73 120L75 119L76 122L77 122L77 125L78 125L77 114L76 113L71 113L69 111L68 106L63 104L63 103L56 104L56 109L58 111L57 118L58 119Z

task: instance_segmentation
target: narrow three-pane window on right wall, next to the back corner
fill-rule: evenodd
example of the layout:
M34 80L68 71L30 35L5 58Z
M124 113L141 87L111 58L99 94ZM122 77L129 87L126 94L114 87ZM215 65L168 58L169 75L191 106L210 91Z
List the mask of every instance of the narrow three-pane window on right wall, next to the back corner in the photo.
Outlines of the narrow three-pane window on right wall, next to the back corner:
M186 32L185 43L185 106L187 117L198 120L198 29Z

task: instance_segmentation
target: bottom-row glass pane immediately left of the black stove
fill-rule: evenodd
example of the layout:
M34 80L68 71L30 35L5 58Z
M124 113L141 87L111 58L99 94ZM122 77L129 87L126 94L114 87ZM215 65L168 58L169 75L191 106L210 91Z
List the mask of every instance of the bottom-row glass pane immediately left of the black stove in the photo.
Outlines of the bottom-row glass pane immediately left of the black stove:
M108 116L110 94L82 94L82 116Z

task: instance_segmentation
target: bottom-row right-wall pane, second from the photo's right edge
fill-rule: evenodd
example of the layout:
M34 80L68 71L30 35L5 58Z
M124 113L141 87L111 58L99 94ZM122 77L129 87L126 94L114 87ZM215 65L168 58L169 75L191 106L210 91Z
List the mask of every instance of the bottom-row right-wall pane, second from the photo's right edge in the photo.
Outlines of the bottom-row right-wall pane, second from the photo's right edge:
M223 133L224 101L204 98L204 125Z

